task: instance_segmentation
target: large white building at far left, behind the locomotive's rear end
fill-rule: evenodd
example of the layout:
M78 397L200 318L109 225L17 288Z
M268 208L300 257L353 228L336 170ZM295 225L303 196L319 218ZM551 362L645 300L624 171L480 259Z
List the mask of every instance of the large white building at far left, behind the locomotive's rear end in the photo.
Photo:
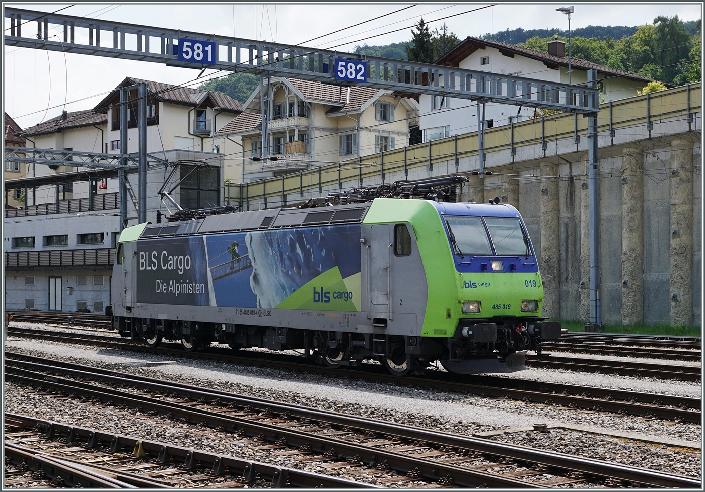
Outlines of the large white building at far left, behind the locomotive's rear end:
M118 87L137 82L147 82L149 94L147 153L171 163L207 160L212 165L178 165L172 184L193 172L172 192L173 198L182 208L222 205L228 167L223 149L213 148L213 134L240 114L242 104L226 94L133 78ZM118 154L119 99L116 88L95 108L64 112L20 136L37 149ZM137 99L136 89L129 99ZM137 153L137 101L130 103L128 115L128 152ZM157 221L157 212L168 215L157 191L170 170L152 163L147 172L149 222ZM26 171L26 177L5 182L6 189L27 190L26 204L4 210L5 308L104 312L110 305L119 231L117 171L36 163ZM137 173L128 177L128 222L136 225Z

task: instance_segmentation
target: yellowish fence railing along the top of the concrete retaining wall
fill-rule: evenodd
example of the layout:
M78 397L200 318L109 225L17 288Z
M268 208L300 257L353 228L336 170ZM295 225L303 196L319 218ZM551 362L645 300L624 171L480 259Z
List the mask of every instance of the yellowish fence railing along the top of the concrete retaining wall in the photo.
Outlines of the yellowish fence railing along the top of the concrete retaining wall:
M620 132L632 132L635 127L644 127L650 135L654 122L679 116L694 129L694 118L700 112L701 83L697 82L602 103L598 113L598 132L601 136L615 136ZM570 137L576 142L580 138L587 139L587 118L570 113L537 115L536 118L486 130L485 153L508 150L514 156L522 146L542 144L546 149L548 141ZM262 202L266 208L268 200L276 206L291 205L303 201L298 197L303 197L307 191L323 191L324 187L342 189L343 184L350 187L351 184L384 183L389 172L403 172L407 176L412 168L427 166L430 173L434 165L441 163L453 168L459 158L477 154L477 132L473 132L255 182L226 183L224 196L230 203L239 204L241 210L250 210L250 202ZM488 165L491 170L491 164Z

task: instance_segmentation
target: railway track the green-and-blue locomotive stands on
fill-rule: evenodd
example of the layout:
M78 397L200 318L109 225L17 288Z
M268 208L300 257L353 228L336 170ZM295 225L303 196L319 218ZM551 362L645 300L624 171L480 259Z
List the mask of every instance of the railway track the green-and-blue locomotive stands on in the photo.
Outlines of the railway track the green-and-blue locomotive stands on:
M15 334L16 332L13 332ZM331 369L314 365L312 361L294 355L238 351L232 355L229 348L210 347L207 351L185 352L178 343L162 343L159 348L149 348L141 343L120 341L117 337L90 336L80 334L80 338L47 334L45 330L22 329L20 336L35 339L63 341L65 343L85 343L109 346L122 350L159 353L184 358L207 360L225 360L238 364L276 367L278 369L300 372L302 370L332 377L350 377L367 379L384 384L421 386L440 391L457 391L464 394L510 398L515 401L527 401L549 405L577 408L584 410L603 410L617 414L639 417L659 417L668 420L699 422L701 419L701 401L698 398L670 396L655 393L641 393L615 389L602 389L593 386L546 383L529 379L515 379L485 375L465 376L448 372L427 372L425 377L396 377L384 371L379 365L363 364L365 367L351 369ZM169 348L168 346L175 348ZM6 351L6 357L30 360L29 356ZM6 362L7 365L8 362Z

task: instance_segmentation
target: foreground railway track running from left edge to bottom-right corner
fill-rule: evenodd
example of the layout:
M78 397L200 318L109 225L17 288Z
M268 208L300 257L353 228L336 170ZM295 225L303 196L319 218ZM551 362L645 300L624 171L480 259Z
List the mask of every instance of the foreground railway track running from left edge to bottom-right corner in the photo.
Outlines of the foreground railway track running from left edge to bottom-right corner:
M600 477L619 480L622 486L700 486L695 479L675 474L133 374L78 365L59 367L53 360L13 360L6 371L6 379L35 386L43 393L68 394L123 408L126 405L142 414L170 415L248 439L255 436L274 443L282 455L303 455L302 459L309 461L333 460L336 464L327 467L329 470L345 468L348 474L371 467L381 472L391 470L397 476L388 484L422 479L446 487L556 487L591 484L591 477ZM556 477L557 472L562 476Z

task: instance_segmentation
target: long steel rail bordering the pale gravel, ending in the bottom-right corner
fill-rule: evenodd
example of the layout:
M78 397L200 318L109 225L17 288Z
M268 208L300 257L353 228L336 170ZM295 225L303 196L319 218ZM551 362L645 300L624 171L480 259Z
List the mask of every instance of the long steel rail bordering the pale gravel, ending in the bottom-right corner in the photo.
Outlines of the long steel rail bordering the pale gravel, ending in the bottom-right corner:
M31 365L35 366L35 365ZM39 369L39 367L37 367ZM44 370L53 370L44 366ZM95 372L87 372L85 370L68 370L64 369L68 374L75 377L91 377L96 378L99 374ZM666 477L660 477L661 472L652 472L637 467L625 467L614 463L602 462L599 460L591 460L583 457L565 455L563 453L555 453L553 451L538 450L535 448L527 448L525 446L508 445L506 443L498 443L496 441L488 441L486 439L477 439L467 436L458 436L448 434L441 431L423 429L420 427L412 427L394 422L384 422L379 420L367 419L352 415L345 415L340 412L332 412L329 410L317 410L300 405L292 405L288 403L278 403L272 400L264 400L262 398L250 398L247 396L235 395L223 391L212 391L210 389L202 389L195 386L178 385L173 386L171 383L164 384L164 381L152 380L144 381L142 377L133 379L131 374L122 374L121 377L114 377L107 374L100 374L104 380L119 381L121 384L130 384L137 386L138 389L145 391L176 392L178 396L189 398L191 400L200 400L208 403L213 401L223 406L234 406L240 408L257 408L266 410L271 414L290 415L307 420L315 420L318 422L326 422L340 426L350 427L361 431L373 431L381 434L399 436L405 439L415 441L425 441L434 443L440 446L450 446L472 450L474 453L487 453L500 456L502 458L512 458L527 462L539 463L541 465L567 469L572 472L581 472L587 474L596 474L601 477L617 478L625 481L632 481L639 484L649 484L654 486L694 486L692 479L680 477L674 474L666 474ZM89 386L85 384L85 386ZM137 396L130 394L131 398L144 399L152 401L153 398L147 396ZM206 415L212 415L215 412L210 410L201 410L190 407L190 410L201 411ZM216 415L221 415L216 413ZM248 421L249 422L249 421ZM686 479L686 481L683 481Z

